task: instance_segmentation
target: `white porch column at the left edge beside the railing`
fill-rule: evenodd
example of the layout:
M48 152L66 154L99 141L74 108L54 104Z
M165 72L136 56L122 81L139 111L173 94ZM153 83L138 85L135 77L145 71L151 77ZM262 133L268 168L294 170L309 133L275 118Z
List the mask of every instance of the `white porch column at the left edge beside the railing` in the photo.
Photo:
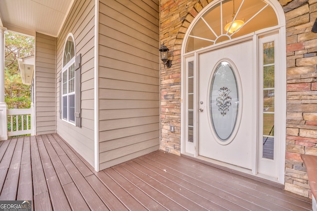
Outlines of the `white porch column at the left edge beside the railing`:
M4 102L4 32L0 26L0 141L7 140L6 104Z

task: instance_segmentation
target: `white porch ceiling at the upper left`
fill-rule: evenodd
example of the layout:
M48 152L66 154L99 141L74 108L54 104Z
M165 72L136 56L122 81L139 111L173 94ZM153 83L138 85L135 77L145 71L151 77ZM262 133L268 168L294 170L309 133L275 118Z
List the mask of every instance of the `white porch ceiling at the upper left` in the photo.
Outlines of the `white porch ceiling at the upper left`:
M0 0L0 26L57 37L74 0Z

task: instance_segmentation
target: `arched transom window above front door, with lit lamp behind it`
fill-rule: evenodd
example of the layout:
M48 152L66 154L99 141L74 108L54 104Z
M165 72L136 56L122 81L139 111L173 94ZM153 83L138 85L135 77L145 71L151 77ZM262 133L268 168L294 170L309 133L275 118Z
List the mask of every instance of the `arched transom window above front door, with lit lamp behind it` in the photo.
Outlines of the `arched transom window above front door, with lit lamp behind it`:
M196 22L185 53L276 25L275 11L263 0L223 0Z

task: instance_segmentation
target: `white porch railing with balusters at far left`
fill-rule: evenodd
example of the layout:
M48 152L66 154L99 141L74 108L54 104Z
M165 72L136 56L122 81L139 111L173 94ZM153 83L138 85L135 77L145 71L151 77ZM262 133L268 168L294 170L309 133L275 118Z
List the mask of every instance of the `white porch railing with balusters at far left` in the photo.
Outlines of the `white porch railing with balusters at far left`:
M34 135L34 107L7 109L8 136Z

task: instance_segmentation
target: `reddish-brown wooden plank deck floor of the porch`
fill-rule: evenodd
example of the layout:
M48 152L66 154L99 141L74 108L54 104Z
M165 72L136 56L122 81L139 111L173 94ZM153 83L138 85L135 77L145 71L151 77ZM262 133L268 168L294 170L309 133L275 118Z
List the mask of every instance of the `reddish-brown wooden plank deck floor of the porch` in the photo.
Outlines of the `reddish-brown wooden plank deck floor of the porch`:
M311 210L311 201L156 151L95 172L57 134L0 142L0 200L35 211Z

